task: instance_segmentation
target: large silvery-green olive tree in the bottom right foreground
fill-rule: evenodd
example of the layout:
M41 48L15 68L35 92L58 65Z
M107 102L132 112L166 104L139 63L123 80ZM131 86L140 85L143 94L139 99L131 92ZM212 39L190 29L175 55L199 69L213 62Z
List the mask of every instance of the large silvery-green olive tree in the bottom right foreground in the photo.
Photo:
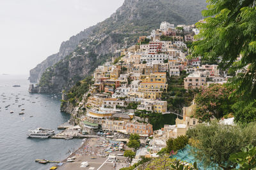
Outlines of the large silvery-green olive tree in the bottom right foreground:
M256 145L256 123L224 125L213 121L211 124L199 124L189 129L187 135L195 141L192 153L205 167L218 165L222 169L236 167L236 162L229 160L232 153L239 152L248 144Z

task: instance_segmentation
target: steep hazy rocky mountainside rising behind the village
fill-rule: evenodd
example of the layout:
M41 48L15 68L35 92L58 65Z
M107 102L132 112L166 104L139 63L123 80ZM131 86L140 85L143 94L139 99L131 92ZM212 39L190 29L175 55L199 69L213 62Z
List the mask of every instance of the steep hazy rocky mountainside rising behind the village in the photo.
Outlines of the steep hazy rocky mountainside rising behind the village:
M194 24L202 18L205 6L205 0L125 0L111 17L62 43L59 53L30 71L30 80L42 76L40 92L69 89L115 50L134 44L138 36L148 34L162 21ZM71 53L74 50L76 53Z

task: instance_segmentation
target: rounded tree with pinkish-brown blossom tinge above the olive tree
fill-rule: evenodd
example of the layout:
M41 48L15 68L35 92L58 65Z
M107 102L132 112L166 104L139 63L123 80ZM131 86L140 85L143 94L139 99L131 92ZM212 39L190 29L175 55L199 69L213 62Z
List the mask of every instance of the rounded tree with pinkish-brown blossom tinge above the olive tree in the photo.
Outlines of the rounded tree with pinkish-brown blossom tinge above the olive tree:
M234 99L228 98L231 93L232 88L219 84L202 89L195 97L196 117L202 121L209 121L212 117L221 118L232 113Z

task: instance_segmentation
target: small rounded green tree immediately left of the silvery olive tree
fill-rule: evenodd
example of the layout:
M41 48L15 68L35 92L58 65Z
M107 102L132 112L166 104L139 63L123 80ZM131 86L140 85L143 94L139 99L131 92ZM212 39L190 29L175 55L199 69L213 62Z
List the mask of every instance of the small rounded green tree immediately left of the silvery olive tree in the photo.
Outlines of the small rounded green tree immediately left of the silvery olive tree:
M173 139L170 138L166 141L166 152L176 152L184 148L188 144L189 138L187 136L178 136L177 138Z

